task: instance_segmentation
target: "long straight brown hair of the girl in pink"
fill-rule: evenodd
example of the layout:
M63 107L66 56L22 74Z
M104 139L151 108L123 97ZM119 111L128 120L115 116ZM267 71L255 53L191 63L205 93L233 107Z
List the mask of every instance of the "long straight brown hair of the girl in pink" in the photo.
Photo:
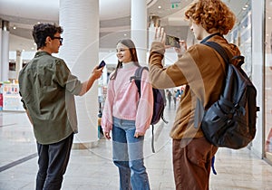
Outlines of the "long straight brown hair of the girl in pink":
M136 47L135 47L135 44L131 41L131 39L121 39L118 43L121 43L129 48L129 50L131 52L131 62L133 62L136 66L140 67L140 64L138 62ZM116 44L118 44L118 43L116 43ZM122 62L120 62L118 60L117 66L116 66L115 70L113 71L110 80L116 79L118 69L120 69L121 67L122 67Z

